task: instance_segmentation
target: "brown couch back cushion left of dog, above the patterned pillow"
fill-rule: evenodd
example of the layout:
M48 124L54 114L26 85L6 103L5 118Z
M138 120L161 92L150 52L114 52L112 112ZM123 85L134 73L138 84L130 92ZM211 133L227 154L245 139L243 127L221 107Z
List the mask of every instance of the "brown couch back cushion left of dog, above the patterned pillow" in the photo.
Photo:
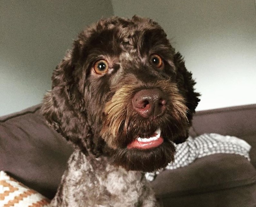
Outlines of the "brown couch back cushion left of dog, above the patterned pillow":
M72 146L46 125L40 107L0 117L0 170L52 198Z

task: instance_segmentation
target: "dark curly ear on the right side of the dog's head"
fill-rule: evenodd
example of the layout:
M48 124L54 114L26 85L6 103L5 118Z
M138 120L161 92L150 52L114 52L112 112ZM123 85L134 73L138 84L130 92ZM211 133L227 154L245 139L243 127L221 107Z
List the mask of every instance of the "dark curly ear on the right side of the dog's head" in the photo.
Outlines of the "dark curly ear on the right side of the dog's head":
M194 85L195 81L192 79L192 73L189 72L185 67L185 62L180 53L176 53L174 55L174 64L177 70L176 82L180 93L183 95L186 101L186 106L188 108L186 116L189 122L189 125L192 125L192 118L195 112L195 108L198 105L200 99L199 93L195 92ZM188 135L187 135L188 136ZM175 141L176 143L184 142L185 139L180 138L179 140Z

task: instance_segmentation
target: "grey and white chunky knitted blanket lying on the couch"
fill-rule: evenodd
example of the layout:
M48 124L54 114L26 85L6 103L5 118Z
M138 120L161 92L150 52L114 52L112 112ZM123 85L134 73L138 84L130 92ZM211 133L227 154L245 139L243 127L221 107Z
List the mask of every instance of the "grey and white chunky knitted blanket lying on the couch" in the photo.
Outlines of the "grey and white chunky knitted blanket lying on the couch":
M169 163L162 170L146 173L145 177L148 181L153 181L156 175L165 169L182 168L194 162L197 158L216 153L239 154L250 161L249 151L251 145L234 136L202 134L196 138L188 137L185 142L177 144L175 147L175 161Z

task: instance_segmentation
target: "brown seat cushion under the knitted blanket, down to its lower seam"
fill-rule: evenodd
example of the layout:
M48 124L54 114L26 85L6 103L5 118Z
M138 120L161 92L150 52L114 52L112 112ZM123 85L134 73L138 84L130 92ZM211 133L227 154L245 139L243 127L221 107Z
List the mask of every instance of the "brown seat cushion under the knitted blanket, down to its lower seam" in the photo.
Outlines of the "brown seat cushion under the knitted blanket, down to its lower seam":
M255 182L256 171L246 158L234 154L214 154L197 159L183 168L165 170L151 184L158 196L175 197Z

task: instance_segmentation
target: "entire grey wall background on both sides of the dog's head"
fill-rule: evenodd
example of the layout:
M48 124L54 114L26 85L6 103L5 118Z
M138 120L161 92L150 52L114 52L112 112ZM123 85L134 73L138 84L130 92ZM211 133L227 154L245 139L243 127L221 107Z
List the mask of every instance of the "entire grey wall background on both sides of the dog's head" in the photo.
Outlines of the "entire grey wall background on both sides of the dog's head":
M256 103L254 0L3 0L0 116L40 103L76 34L113 14L163 26L196 78L197 110Z

